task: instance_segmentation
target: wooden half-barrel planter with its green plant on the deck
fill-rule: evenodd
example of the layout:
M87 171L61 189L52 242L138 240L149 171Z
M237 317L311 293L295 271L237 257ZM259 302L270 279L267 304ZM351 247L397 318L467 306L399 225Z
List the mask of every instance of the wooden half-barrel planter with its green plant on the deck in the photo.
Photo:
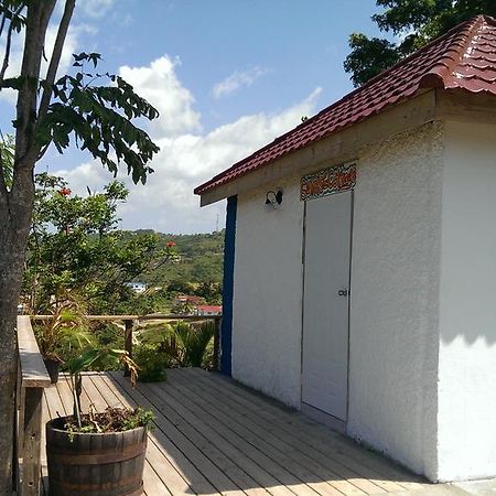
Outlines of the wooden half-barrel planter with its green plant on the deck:
M82 373L121 364L136 385L137 365L120 349L91 348L66 362L73 414L46 423L51 496L140 495L143 486L147 429L153 420L140 408L80 411Z

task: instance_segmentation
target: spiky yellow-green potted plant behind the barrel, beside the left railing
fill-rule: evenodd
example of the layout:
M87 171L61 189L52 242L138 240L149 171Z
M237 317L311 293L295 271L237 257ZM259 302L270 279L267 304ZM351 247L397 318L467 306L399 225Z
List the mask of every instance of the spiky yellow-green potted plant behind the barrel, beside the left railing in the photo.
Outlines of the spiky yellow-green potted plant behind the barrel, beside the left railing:
M55 304L53 317L35 326L34 333L52 384L58 380L61 364L91 344L87 321L74 299Z

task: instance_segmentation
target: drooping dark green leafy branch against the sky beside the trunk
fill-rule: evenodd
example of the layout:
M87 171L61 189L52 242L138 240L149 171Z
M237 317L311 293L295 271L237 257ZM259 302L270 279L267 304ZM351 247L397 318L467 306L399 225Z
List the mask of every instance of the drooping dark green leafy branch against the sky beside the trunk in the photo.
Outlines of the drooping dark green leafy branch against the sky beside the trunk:
M71 143L68 131L72 131L79 148L88 150L115 175L118 164L125 163L134 183L144 184L147 175L153 172L148 162L159 147L131 119L152 120L159 116L158 110L134 94L132 86L120 76L93 72L90 66L97 67L100 54L82 52L73 57L73 67L78 71L61 77L52 86L53 101L39 122L39 143L42 148L53 143L62 153ZM98 86L96 82L104 85ZM117 160L109 153L108 143Z

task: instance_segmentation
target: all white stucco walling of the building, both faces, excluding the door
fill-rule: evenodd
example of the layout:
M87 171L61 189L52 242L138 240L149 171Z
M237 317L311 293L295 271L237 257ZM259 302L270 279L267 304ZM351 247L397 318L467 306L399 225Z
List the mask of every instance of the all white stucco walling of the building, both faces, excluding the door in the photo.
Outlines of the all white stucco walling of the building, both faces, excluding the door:
M433 481L495 475L495 137L433 123L357 151L347 432ZM295 408L299 179L238 197L233 319L233 376Z

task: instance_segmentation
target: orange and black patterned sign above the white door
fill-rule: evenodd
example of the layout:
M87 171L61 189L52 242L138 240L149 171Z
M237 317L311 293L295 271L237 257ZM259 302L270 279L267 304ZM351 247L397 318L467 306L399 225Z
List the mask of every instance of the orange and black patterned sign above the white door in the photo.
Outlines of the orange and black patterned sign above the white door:
M301 179L300 200L315 200L322 196L349 191L356 184L356 163L323 169Z

